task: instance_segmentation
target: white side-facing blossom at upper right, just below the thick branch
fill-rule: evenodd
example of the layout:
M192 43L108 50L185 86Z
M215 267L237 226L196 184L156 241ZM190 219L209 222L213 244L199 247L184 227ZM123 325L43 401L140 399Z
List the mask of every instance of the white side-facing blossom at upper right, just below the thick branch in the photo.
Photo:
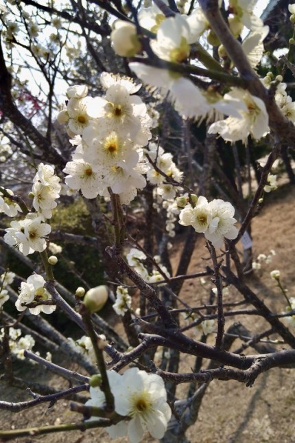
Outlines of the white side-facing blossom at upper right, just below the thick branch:
M233 88L224 95L224 98L241 100L239 113L241 118L228 117L211 124L209 134L220 134L226 141L232 143L237 140L246 143L248 135L255 139L261 139L268 133L268 113L266 105L260 98L251 95L244 89Z

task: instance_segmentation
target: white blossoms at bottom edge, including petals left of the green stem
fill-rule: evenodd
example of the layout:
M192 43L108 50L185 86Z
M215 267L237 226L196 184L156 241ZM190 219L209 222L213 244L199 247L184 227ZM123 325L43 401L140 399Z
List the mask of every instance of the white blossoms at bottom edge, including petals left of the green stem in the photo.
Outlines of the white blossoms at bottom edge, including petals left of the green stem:
M131 443L138 443L145 431L152 437L163 438L171 418L171 409L167 404L167 393L162 378L156 374L132 367L123 375L108 371L110 389L115 399L115 411L130 420L107 427L111 438L122 437L128 433ZM91 400L86 406L104 407L105 396L99 387L90 388ZM97 420L93 416L90 420Z

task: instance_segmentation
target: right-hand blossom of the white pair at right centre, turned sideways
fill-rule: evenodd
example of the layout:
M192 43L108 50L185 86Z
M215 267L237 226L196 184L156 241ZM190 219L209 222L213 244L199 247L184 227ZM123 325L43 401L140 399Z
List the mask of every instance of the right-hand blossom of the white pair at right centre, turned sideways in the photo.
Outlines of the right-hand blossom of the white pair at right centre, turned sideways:
M208 207L212 220L207 231L204 232L204 235L207 240L211 241L215 248L221 248L224 238L233 240L239 233L238 229L234 226L237 222L237 220L233 218L235 208L231 203L223 201L220 198L211 201Z

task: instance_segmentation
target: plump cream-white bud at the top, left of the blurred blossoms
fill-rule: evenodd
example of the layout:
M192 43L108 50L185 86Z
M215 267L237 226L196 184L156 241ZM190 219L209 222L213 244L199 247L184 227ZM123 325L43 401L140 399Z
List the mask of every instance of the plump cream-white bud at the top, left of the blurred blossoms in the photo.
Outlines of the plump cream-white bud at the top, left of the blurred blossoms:
M110 34L113 48L121 57L133 57L141 52L141 42L137 36L137 28L132 23L117 20Z

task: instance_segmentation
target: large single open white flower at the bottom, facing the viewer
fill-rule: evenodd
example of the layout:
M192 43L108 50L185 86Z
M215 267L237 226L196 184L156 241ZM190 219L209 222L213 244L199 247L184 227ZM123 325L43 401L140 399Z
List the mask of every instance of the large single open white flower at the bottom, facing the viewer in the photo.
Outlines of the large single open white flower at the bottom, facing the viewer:
M163 438L171 418L171 409L160 376L132 367L121 376L113 394L115 411L121 416L132 417L128 422L131 443L140 442L145 431L149 431L154 438Z

